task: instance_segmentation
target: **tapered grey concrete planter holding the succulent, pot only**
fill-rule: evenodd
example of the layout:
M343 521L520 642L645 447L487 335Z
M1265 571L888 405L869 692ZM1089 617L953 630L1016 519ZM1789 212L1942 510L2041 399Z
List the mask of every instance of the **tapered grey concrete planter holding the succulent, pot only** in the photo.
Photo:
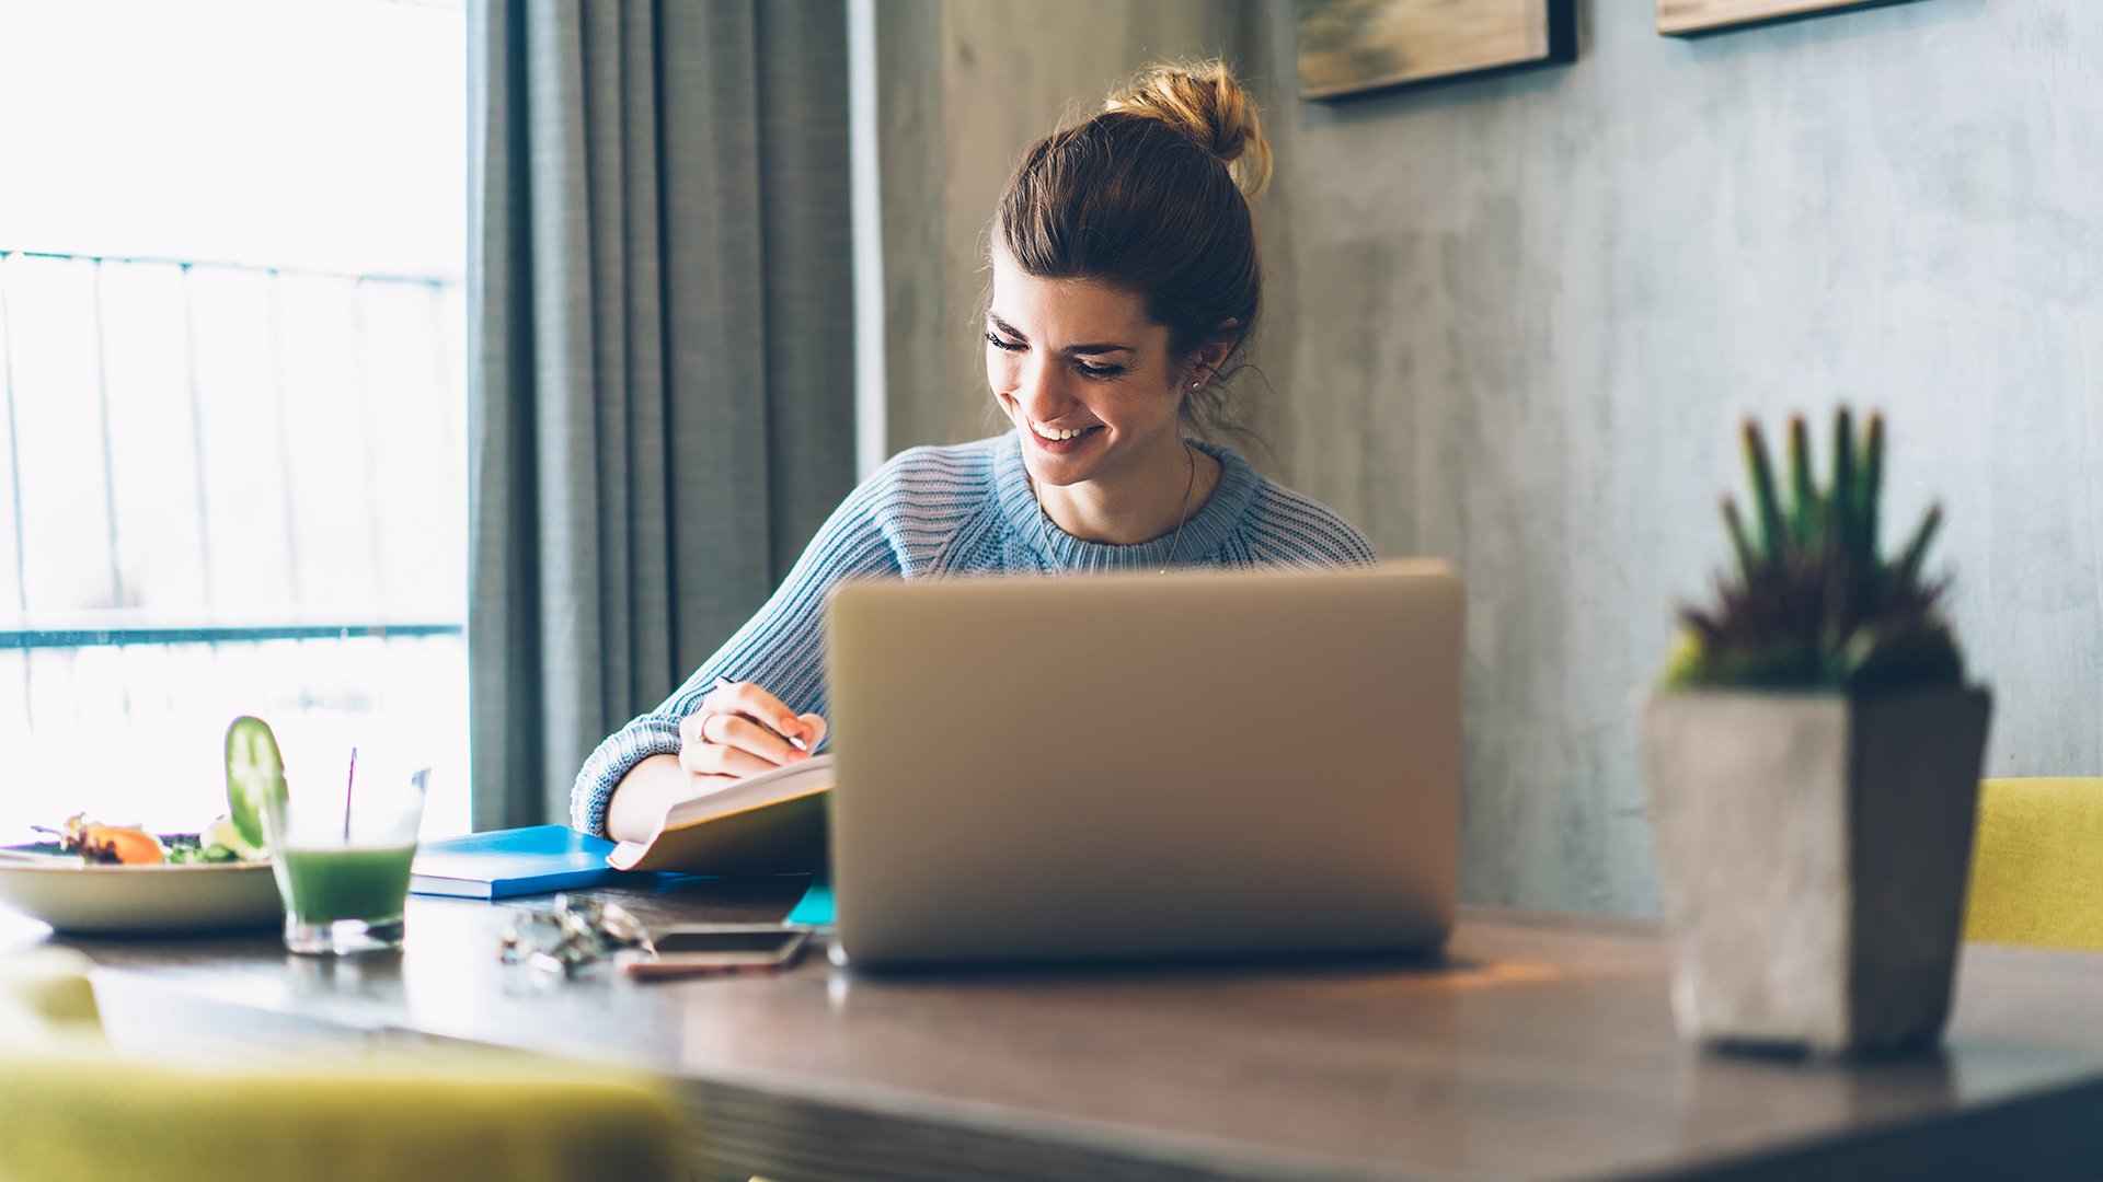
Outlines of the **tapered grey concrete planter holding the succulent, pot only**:
M1651 698L1680 1035L1840 1056L1941 1039L1989 713L1964 688Z

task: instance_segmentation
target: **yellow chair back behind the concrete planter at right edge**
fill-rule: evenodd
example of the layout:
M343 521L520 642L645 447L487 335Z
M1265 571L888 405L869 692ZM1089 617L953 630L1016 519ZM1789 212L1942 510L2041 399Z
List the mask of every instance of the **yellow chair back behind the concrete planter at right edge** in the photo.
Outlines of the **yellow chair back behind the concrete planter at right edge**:
M1979 784L1964 938L2103 949L2103 778Z

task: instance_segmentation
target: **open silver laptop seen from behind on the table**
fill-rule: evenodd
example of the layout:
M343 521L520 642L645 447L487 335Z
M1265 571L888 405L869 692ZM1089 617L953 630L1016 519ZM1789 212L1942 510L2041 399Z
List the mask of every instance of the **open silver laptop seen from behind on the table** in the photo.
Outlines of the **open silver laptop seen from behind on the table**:
M1445 564L856 583L829 629L856 967L1420 951L1453 925Z

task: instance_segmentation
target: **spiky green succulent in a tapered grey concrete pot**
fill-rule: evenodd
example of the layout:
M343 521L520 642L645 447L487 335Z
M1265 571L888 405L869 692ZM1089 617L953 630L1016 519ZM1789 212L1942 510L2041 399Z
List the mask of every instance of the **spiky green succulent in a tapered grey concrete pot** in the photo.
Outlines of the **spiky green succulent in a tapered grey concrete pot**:
M1804 421L1788 492L1743 429L1752 522L1685 608L1645 707L1672 1014L1710 1045L1933 1047L1949 1016L1992 700L1964 681L1924 574L1931 509L1878 547L1884 423L1834 423L1819 488Z

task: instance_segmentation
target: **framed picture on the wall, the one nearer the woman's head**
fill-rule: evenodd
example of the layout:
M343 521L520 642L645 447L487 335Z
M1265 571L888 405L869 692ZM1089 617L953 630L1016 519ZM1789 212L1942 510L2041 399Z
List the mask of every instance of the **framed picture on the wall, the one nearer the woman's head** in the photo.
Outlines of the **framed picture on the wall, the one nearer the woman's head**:
M1300 0L1300 97L1577 59L1577 0Z

